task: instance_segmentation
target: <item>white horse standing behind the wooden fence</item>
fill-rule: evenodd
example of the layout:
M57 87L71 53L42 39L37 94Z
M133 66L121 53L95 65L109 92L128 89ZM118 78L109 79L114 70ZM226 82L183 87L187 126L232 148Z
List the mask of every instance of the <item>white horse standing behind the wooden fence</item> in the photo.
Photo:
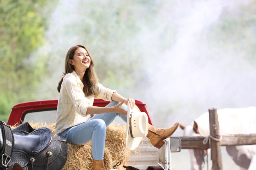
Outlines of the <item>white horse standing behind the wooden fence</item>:
M256 107L217 110L220 135L256 133ZM204 113L190 125L180 124L184 136L210 135L209 113ZM256 170L256 145L226 146L231 159L240 170ZM189 149L191 170L202 170L207 150Z

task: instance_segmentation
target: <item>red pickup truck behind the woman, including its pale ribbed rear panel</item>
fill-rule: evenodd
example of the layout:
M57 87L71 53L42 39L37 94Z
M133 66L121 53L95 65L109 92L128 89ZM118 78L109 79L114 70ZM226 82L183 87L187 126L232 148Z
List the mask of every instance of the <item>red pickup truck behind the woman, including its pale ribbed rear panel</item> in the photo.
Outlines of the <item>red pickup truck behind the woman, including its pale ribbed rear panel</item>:
M108 103L110 102L104 101L102 99L94 99L93 105L106 106ZM135 100L135 103L139 107L141 112L145 112L148 115L148 123L152 124L146 104L144 104L139 100ZM13 106L7 124L14 126L14 125L19 125L25 121L32 122L32 123L53 124L56 122L57 104L58 104L57 99L41 100L41 101L25 102L25 103L17 104ZM116 121L117 124L118 123L124 124L124 122L121 121L121 118L117 117L116 119L117 119ZM159 159L161 160L161 162L164 162L165 160L164 159L165 151L163 149L164 147L162 147L159 150L153 147L147 138L144 138L144 141L146 142L141 142L141 144L139 145L140 155L138 155L137 152L132 152L132 154L130 155L130 161L128 161L128 166L134 166L141 170L146 170L148 166L158 166ZM175 147L173 148L174 150L176 150Z

